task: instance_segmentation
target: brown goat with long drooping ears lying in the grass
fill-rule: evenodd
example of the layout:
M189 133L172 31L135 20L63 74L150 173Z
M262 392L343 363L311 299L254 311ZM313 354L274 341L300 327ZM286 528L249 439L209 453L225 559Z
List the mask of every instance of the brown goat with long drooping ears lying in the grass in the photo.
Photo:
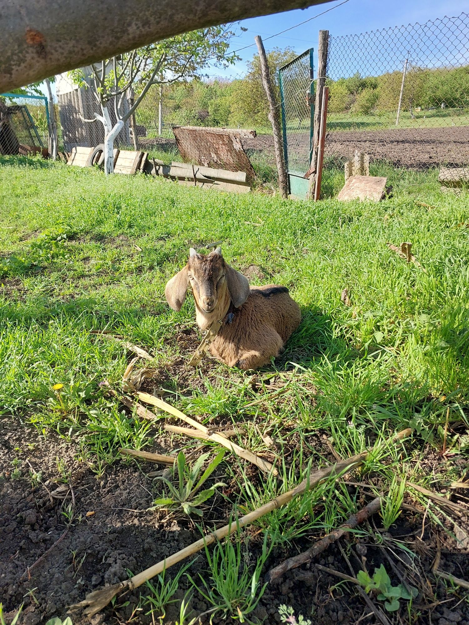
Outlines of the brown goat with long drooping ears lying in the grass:
M181 310L188 287L201 330L223 320L210 346L213 356L240 369L256 369L278 356L301 321L300 307L285 286L251 286L216 250L202 256L192 247L184 269L164 289L169 306Z

